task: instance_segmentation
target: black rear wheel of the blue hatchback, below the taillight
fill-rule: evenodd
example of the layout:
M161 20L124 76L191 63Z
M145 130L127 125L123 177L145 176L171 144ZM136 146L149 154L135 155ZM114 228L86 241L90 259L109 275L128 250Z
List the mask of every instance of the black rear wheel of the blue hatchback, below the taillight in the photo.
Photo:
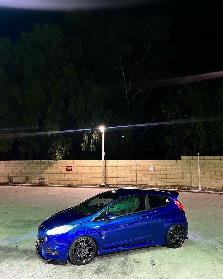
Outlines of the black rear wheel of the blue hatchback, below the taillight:
M166 234L166 245L170 248L179 248L184 243L185 230L181 225L173 225Z

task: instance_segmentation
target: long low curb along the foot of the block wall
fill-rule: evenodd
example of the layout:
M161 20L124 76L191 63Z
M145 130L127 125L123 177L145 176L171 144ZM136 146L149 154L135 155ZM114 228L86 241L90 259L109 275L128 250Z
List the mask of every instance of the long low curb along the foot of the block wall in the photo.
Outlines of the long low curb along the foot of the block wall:
M116 189L128 189L128 188L134 188L134 187L119 187L119 186L105 186L105 187L101 187L101 186L82 186L82 185L41 185L41 184L8 184L8 183L5 183L5 184L0 184L0 186L27 186L27 187L66 187L66 188L100 188L100 189L105 189L105 188L109 188L109 189L113 189L113 188L116 188ZM147 188L147 187L137 187L137 189L146 189L146 190L164 190L164 188ZM222 194L223 195L223 192L217 192L217 191L206 191L206 190L187 190L187 189L167 189L167 190L176 190L178 192L191 192L191 193L211 193L211 194Z

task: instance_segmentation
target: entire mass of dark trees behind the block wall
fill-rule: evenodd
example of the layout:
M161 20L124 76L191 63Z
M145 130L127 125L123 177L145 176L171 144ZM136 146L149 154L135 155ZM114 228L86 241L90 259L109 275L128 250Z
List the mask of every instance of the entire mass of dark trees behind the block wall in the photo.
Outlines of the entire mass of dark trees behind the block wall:
M194 119L163 129L106 131L106 158L155 158L156 149L162 158L221 153L222 88L189 84L166 93L159 87L159 79L175 73L170 29L171 20L161 14L69 12L16 40L0 39L1 128L29 127L12 131L23 133ZM95 159L100 141L94 129L0 136L0 154L3 160Z

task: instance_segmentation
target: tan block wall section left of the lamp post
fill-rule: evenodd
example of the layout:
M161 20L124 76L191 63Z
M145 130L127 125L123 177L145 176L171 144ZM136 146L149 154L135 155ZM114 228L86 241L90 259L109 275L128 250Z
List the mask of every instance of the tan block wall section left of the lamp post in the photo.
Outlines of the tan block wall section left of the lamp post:
M72 171L66 171L72 166ZM46 183L53 184L101 184L102 160L61 160L55 161L0 161L0 181L8 176L14 182L22 183L29 176L31 183L38 183L39 176Z

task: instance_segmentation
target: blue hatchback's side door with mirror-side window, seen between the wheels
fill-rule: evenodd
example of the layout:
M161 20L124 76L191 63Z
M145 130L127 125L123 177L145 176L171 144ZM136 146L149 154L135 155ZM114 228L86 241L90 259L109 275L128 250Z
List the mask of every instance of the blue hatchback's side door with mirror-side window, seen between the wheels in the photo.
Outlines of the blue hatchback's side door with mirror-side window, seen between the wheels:
M128 197L109 206L116 219L102 220L103 249L143 243L151 235L151 213L146 195Z

